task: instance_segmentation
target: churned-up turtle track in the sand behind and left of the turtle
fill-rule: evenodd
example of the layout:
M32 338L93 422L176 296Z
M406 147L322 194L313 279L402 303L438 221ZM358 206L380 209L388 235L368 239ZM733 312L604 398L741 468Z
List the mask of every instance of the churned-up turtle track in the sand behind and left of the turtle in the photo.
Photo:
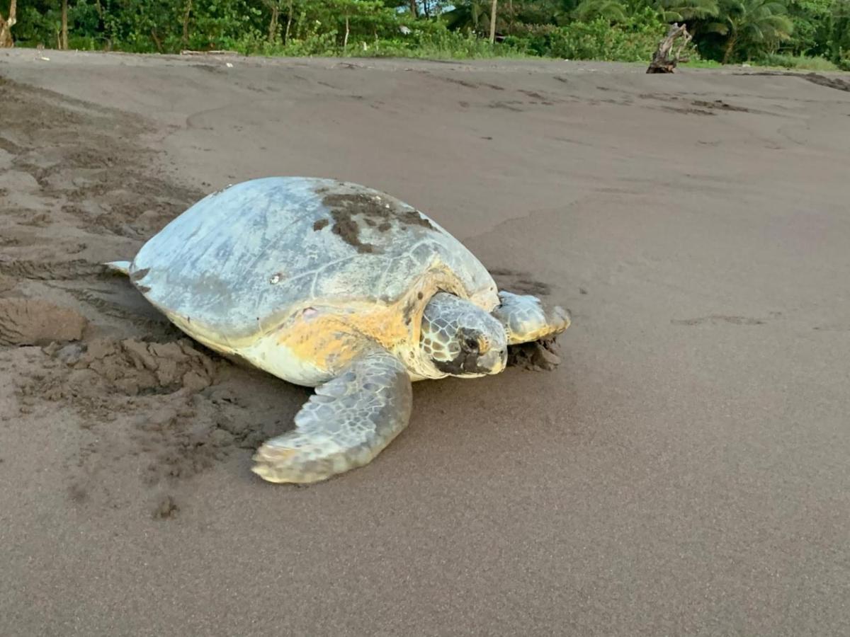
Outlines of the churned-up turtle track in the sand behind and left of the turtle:
M247 464L291 414L280 400L240 403L231 387L246 378L269 393L280 387L186 339L102 265L131 256L205 194L158 167L161 155L144 143L155 129L0 84L0 422L65 441L57 487L74 505L142 503L169 519L182 481L235 452ZM140 476L129 497L110 487L127 473Z

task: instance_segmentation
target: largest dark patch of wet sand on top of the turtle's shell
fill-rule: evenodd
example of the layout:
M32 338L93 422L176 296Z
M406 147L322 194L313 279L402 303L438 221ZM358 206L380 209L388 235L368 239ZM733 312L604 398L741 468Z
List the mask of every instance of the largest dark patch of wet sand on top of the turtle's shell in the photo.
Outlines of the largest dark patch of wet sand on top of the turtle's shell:
M331 231L357 248L358 252L374 252L376 246L360 240L360 225L354 220L360 215L364 223L379 232L387 232L393 227L393 220L405 226L422 226L434 228L427 218L416 210L399 210L397 206L383 202L369 194L326 194L322 203L331 209L333 228Z

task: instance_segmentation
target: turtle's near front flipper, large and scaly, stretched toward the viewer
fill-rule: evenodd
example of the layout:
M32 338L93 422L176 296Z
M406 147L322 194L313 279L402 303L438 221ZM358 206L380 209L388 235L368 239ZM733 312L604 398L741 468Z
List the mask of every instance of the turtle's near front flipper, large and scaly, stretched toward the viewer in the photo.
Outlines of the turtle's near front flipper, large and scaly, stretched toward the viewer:
M404 430L413 403L404 364L389 352L365 352L316 391L295 429L271 438L252 471L268 482L319 482L367 465Z

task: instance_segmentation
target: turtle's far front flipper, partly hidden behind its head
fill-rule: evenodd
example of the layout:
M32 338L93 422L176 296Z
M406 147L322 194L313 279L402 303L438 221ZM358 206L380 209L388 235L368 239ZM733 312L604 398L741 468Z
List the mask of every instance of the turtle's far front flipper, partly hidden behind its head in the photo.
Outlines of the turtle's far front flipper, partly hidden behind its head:
M570 312L547 307L536 296L499 292L501 305L492 314L507 332L507 344L530 343L557 335L570 327Z

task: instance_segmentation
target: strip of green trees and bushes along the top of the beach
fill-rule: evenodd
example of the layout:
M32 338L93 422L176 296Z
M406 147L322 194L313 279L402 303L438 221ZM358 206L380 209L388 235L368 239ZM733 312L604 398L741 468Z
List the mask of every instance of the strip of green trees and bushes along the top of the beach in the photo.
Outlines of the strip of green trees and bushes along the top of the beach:
M850 0L0 0L0 46L643 62L672 22L689 65L850 70Z

